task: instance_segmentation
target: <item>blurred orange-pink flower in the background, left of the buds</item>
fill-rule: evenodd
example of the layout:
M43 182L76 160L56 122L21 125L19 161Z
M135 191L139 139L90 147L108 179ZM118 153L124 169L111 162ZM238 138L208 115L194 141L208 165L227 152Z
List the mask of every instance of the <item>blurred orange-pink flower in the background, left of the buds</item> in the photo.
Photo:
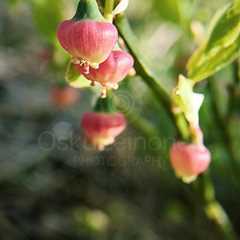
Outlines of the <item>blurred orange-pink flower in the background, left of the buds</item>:
M52 103L58 108L66 108L76 103L79 94L75 88L55 86L51 89L50 98Z

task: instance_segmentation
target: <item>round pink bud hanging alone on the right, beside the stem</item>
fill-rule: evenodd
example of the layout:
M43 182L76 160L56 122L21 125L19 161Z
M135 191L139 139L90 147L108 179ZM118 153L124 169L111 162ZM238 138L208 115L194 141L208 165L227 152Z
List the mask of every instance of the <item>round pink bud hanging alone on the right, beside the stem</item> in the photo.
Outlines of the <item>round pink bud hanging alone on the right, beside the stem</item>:
M170 159L176 175L190 183L207 170L211 154L204 145L179 142L171 147Z

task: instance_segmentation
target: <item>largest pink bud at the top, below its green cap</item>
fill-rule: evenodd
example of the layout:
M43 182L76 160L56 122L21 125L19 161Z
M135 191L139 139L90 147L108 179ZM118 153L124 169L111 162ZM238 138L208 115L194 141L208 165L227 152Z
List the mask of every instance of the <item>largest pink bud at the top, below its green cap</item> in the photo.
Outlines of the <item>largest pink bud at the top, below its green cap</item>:
M111 53L118 32L111 23L66 20L59 25L57 37L62 47L72 55L74 63L97 66Z

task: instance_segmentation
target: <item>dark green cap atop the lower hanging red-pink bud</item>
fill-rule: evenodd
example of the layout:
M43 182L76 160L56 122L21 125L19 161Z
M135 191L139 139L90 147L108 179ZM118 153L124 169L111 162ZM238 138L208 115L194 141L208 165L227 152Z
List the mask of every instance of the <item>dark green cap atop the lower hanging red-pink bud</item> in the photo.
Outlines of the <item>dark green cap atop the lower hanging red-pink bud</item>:
M99 98L94 107L95 112L102 113L114 113L116 112L116 107L114 105L113 96L111 93L108 93L106 98Z

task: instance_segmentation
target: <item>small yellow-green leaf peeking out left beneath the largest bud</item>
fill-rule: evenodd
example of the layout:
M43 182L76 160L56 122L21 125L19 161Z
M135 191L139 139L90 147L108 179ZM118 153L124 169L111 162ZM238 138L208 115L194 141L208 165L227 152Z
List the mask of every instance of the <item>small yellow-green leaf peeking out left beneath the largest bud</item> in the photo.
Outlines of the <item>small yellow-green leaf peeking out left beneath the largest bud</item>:
M65 79L68 84L74 88L90 87L90 81L74 68L74 65L71 63L71 61L68 63Z

